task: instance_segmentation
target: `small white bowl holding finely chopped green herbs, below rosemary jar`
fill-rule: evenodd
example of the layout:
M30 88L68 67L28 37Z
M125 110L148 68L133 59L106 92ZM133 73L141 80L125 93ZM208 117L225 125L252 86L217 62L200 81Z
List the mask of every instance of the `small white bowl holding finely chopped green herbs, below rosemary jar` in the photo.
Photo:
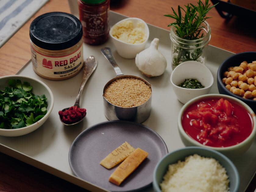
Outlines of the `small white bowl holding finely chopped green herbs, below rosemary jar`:
M171 83L178 100L185 104L197 96L208 94L213 85L213 76L204 64L186 61L172 71Z

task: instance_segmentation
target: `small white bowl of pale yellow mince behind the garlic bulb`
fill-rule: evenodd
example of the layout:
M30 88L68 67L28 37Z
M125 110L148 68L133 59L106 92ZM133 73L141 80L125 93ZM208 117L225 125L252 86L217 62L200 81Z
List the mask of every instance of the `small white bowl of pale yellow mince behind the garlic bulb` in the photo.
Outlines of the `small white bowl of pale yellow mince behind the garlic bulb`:
M143 51L148 41L147 23L139 18L127 18L116 23L109 35L118 54L126 59L133 59Z

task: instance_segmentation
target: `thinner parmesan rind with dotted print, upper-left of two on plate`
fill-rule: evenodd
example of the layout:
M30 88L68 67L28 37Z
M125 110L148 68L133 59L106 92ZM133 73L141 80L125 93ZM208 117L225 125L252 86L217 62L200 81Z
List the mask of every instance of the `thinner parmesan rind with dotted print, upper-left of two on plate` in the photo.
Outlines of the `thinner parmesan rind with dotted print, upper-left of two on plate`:
M125 160L126 157L128 157L128 155L130 155L134 150L135 148L133 148L128 142L124 142L101 160L100 164L103 167L110 169Z

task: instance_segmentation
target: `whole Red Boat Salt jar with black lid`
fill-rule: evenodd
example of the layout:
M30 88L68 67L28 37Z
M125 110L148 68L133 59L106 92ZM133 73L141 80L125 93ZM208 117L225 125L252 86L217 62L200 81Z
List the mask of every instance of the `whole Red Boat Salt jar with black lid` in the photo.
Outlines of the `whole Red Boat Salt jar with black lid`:
M34 71L50 80L75 76L83 67L83 31L80 21L64 12L49 12L30 25Z

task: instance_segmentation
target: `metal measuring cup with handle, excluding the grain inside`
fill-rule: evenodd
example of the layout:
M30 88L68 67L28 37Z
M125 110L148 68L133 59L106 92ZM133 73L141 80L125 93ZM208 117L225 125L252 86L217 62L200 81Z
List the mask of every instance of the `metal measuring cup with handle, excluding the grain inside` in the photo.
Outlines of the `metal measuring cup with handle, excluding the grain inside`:
M116 61L112 55L111 49L106 47L102 48L101 52L105 56L106 59L111 63L112 67L116 72L116 77L109 80L103 89L103 95L105 89L111 84L113 81L121 78L135 78L144 81L150 88L151 88L151 96L145 103L136 106L136 107L119 107L110 103L103 95L103 104L104 104L104 114L108 120L126 120L126 121L133 121L136 123L142 123L146 119L148 119L150 112L151 112L151 100L152 100L152 85L148 83L148 81L144 80L141 77L134 76L134 75L124 75Z

